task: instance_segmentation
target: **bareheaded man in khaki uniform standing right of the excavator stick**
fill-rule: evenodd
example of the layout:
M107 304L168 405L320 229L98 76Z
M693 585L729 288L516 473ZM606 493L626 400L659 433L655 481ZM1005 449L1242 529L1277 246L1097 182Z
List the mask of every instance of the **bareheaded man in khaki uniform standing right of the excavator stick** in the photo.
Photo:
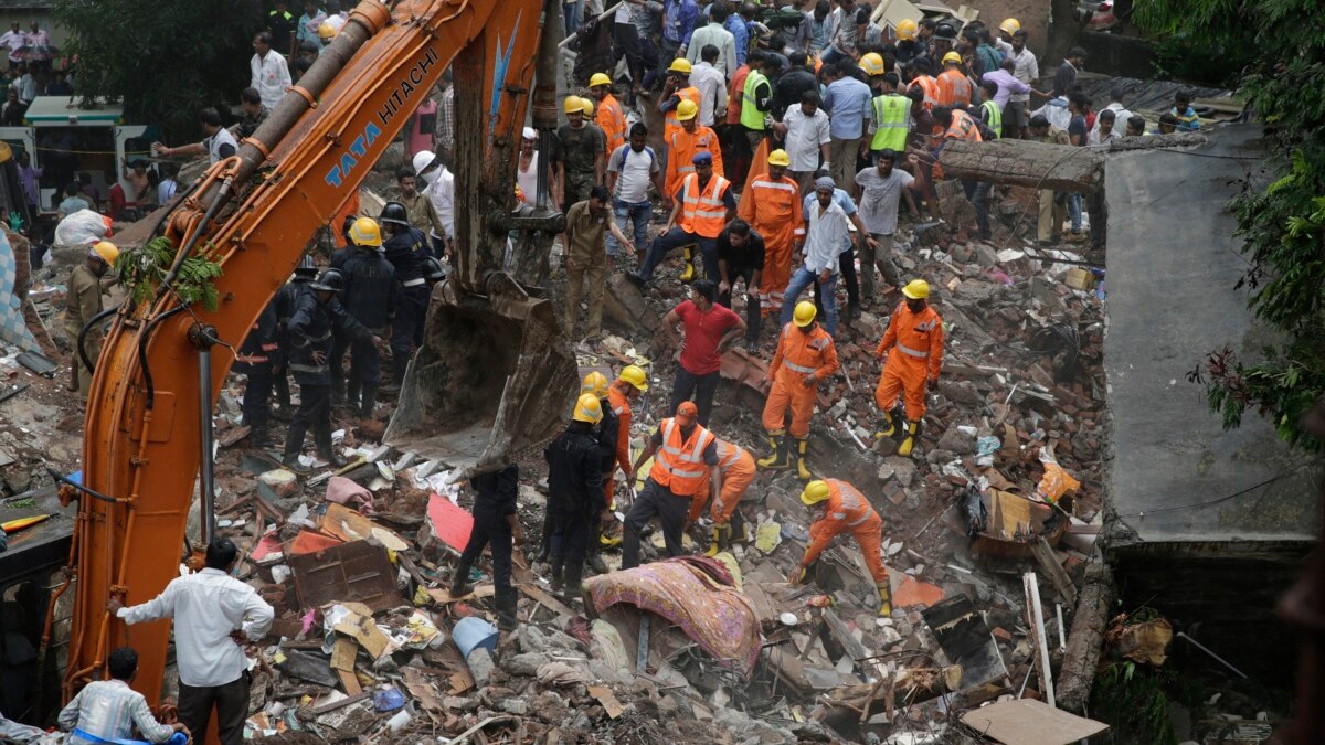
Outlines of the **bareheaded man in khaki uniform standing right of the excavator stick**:
M607 282L607 235L612 233L625 251L635 253L635 244L616 227L610 205L612 194L606 186L590 190L588 199L571 204L566 212L566 333L572 339L594 338L603 330L603 286ZM579 301L588 302L584 335L575 334ZM606 386L606 383L604 383Z

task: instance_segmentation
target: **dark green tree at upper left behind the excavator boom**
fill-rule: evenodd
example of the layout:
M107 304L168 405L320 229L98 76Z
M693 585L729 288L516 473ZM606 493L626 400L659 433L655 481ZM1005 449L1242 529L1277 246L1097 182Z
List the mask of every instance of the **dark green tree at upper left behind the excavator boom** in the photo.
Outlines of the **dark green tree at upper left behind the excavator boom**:
M122 99L174 142L200 139L199 110L238 99L262 19L257 0L56 0L52 16L78 56L77 93Z

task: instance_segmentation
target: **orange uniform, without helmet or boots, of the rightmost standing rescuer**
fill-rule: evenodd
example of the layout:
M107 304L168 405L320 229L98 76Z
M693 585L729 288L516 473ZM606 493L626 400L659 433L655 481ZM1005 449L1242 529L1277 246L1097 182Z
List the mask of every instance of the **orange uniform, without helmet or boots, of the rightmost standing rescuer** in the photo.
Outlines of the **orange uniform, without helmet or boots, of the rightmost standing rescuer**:
M882 357L888 350L874 403L886 414L905 392L906 419L920 422L925 416L925 380L937 380L943 367L943 319L928 304L920 313L898 304L874 354Z

